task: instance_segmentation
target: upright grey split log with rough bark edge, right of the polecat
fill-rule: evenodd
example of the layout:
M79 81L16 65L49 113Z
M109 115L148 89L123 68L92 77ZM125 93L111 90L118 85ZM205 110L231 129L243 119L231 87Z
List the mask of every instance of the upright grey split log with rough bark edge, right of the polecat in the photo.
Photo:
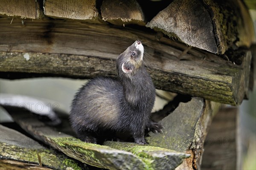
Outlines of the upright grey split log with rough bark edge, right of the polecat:
M151 146L191 154L177 170L200 169L207 129L219 106L219 103L204 101L198 97L187 103L181 102L175 111L160 121L165 127L163 134L149 133L151 137L146 139Z

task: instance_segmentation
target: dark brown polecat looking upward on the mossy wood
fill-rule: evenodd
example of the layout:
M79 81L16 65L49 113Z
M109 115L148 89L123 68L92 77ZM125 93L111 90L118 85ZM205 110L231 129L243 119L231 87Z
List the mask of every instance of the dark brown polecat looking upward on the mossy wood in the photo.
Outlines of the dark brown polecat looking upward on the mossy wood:
M143 66L144 48L135 41L116 61L118 79L90 80L73 99L70 122L79 139L102 143L119 139L146 144L145 129L160 132L162 126L149 119L155 87Z

